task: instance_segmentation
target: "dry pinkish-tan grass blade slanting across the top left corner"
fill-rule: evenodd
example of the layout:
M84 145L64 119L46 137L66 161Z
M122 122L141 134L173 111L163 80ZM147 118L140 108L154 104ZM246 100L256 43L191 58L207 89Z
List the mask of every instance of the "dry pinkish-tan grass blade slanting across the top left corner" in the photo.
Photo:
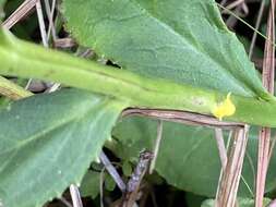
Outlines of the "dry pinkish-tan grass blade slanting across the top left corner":
M2 26L10 29L13 25L25 17L36 5L37 0L25 0L3 23Z

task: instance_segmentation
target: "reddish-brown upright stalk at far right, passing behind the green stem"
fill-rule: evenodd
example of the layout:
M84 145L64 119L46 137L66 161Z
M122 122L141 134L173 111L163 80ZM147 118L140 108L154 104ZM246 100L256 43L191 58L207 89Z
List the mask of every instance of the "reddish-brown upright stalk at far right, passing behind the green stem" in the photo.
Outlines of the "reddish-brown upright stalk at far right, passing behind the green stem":
M271 11L267 20L267 39L264 50L263 62L263 85L271 93L274 94L274 70L275 70L275 49L273 44L275 41L275 0L271 1ZM265 180L269 161L269 142L271 129L262 127L259 137L259 155L257 155L257 174L256 174L256 196L255 207L263 206L263 197L265 193Z

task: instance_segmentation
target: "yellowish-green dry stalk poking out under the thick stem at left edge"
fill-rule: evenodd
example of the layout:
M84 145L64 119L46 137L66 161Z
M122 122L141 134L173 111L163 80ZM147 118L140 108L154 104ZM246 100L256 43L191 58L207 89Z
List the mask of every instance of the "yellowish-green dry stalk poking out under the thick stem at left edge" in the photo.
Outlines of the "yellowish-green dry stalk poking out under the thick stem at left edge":
M25 90L24 88L2 76L0 76L0 94L12 100L32 96L31 92Z

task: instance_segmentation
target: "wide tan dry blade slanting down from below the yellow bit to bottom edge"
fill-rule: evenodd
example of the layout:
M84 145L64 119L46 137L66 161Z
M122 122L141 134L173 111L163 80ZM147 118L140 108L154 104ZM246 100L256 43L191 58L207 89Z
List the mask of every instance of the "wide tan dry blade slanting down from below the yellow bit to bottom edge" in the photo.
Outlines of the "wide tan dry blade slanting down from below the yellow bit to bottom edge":
M235 132L230 155L218 186L217 207L233 207L236 205L247 143L248 126L245 125L244 129Z

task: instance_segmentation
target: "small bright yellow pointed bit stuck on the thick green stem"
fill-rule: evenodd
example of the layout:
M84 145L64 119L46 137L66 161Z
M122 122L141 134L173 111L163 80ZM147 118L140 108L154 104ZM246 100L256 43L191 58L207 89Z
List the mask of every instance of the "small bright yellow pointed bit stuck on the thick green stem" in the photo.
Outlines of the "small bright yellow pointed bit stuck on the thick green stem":
M227 94L227 97L224 101L218 104L213 110L213 114L218 118L220 121L224 117L232 115L236 111L236 107L230 99L231 93Z

